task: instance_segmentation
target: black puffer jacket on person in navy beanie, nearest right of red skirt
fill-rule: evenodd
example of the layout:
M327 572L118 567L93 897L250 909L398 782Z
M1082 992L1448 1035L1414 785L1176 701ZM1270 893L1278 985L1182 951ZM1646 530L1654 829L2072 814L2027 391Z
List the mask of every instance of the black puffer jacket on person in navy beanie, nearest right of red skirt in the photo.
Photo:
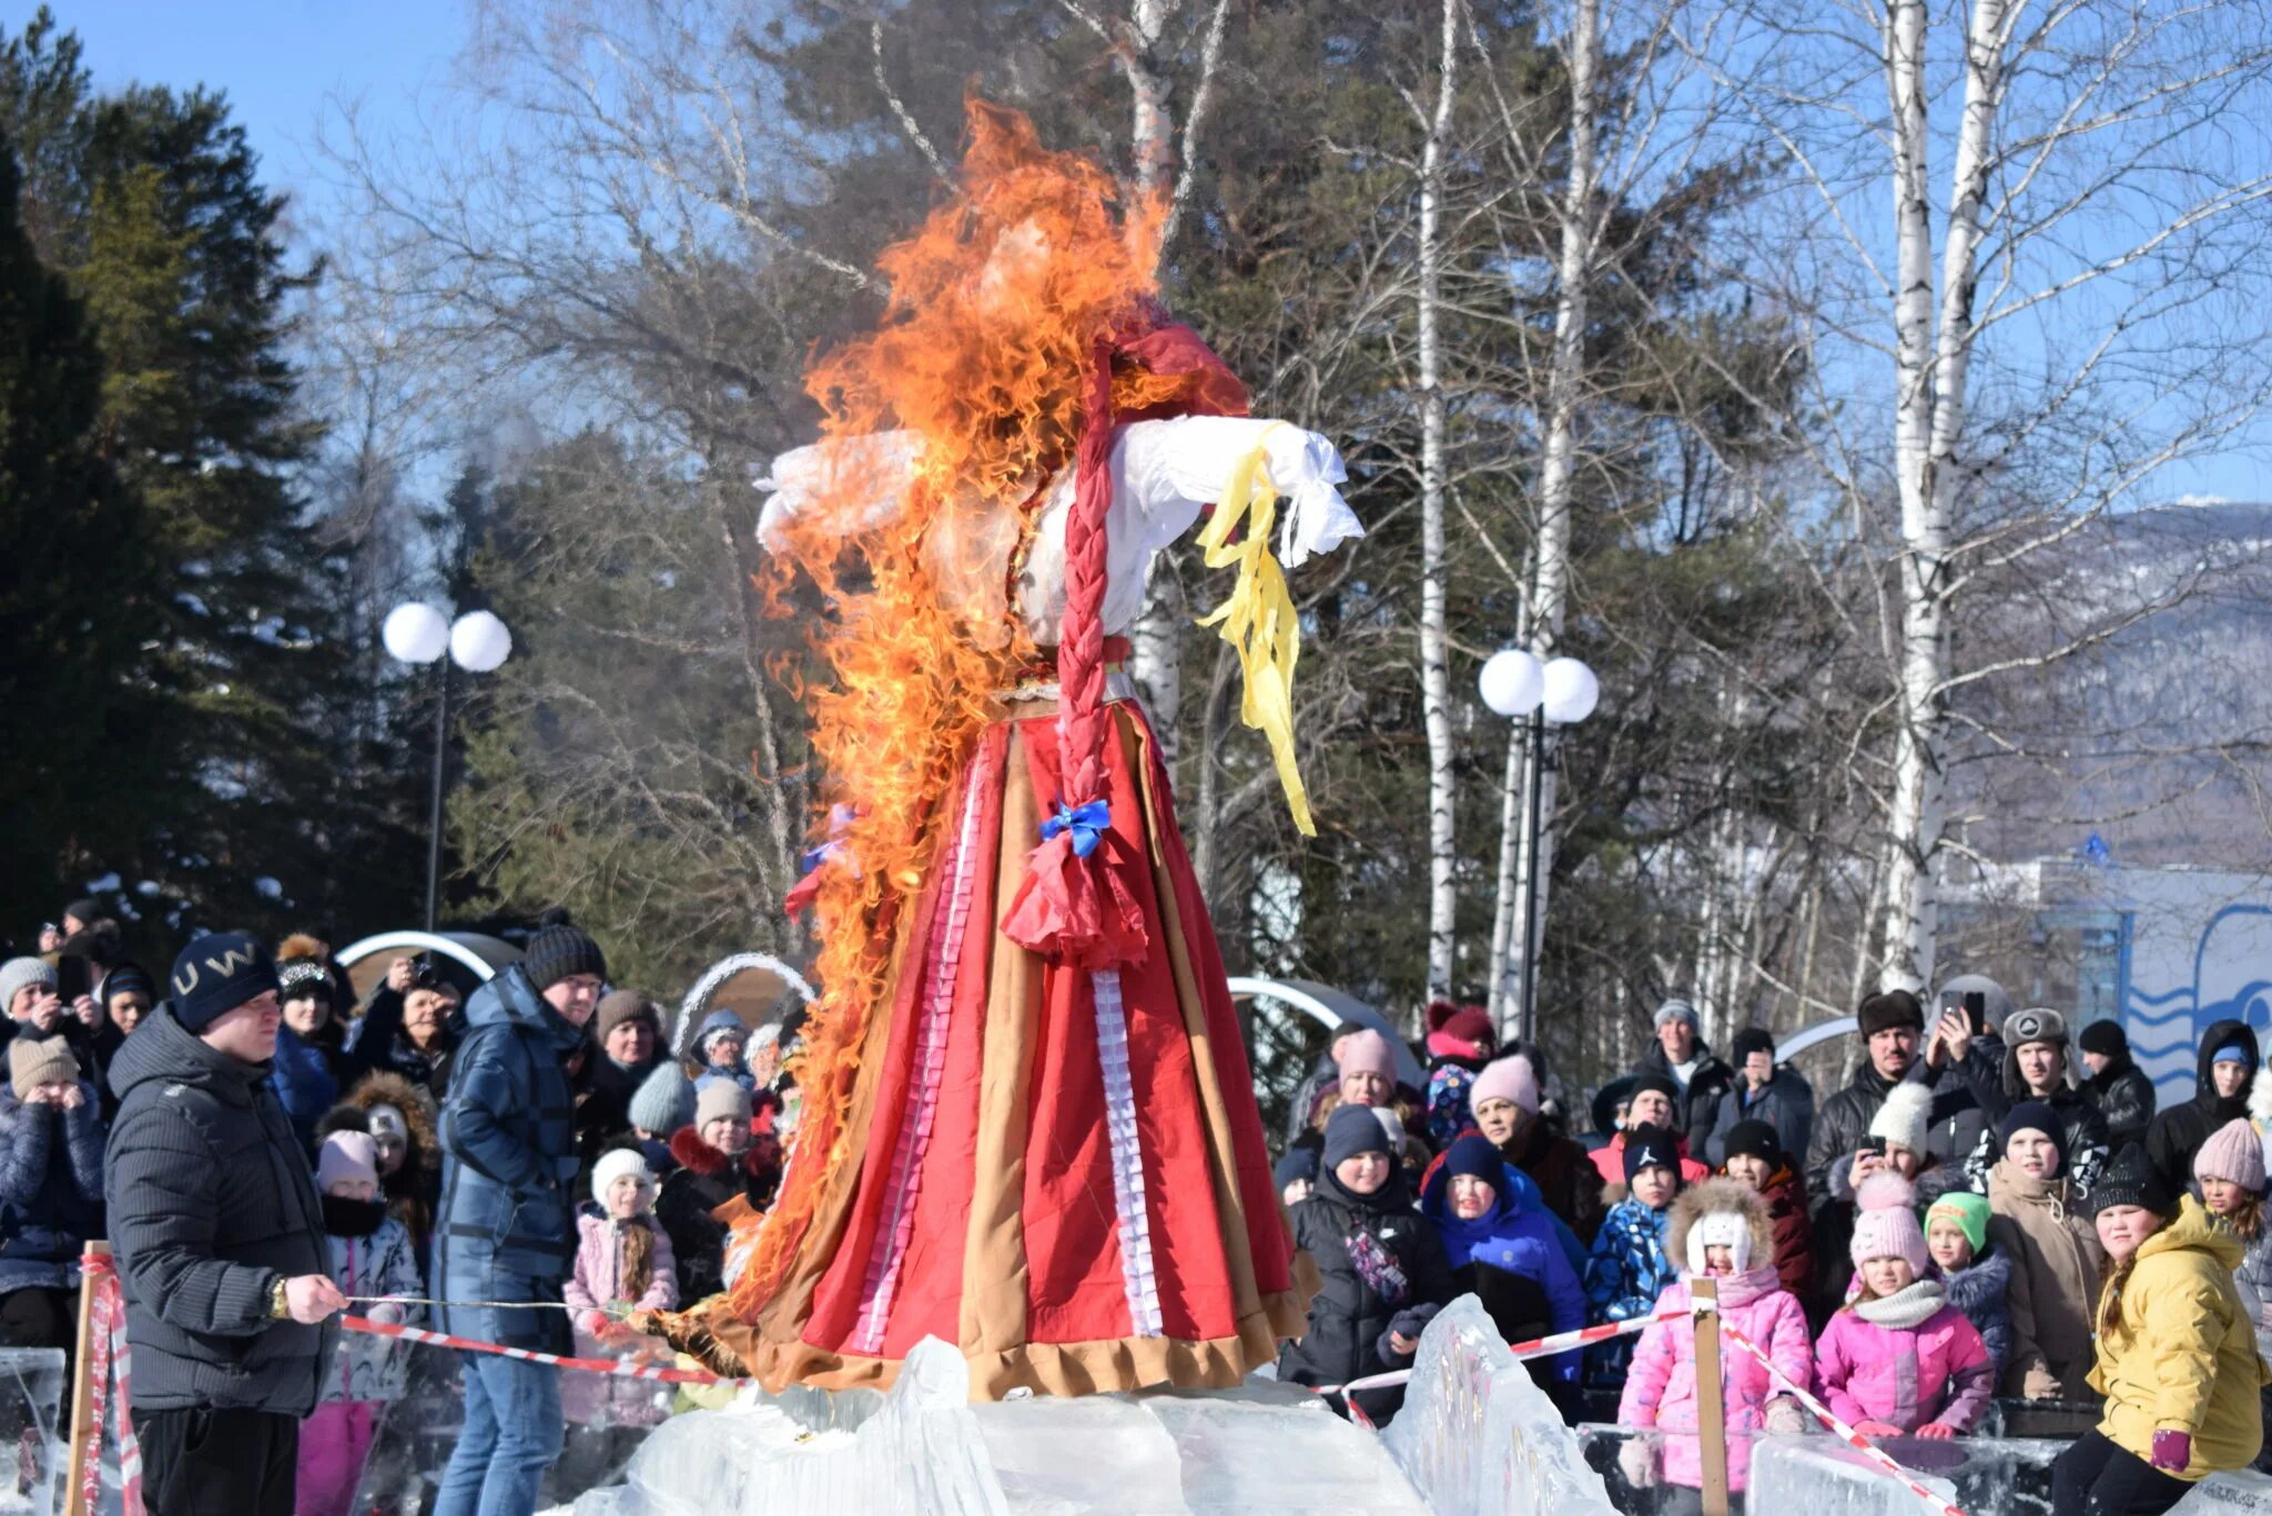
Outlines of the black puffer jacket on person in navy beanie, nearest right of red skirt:
M1309 1302L1309 1330L1279 1355L1288 1384L1345 1384L1411 1359L1384 1357L1390 1323L1452 1300L1452 1266L1436 1227L1413 1209L1404 1175L1370 1196L1350 1193L1331 1173L1293 1207L1293 1243L1318 1264L1322 1286Z

